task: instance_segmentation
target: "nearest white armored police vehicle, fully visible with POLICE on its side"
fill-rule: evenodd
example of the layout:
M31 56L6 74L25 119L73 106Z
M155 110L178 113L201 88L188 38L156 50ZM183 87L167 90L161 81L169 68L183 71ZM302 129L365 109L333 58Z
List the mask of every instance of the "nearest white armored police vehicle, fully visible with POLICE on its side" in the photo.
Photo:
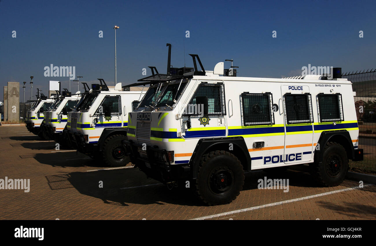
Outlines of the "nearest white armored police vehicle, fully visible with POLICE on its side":
M337 186L348 160L363 160L346 78L236 77L234 66L220 62L205 71L191 56L193 72L173 74L168 64L167 74L138 80L150 88L129 113L122 142L149 177L189 181L202 201L216 205L240 194L245 171L309 163L321 185Z

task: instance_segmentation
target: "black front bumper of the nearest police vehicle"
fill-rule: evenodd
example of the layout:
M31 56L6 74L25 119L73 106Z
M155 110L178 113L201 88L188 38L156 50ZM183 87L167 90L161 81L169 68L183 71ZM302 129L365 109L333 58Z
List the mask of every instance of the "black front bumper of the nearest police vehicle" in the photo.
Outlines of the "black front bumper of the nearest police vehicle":
M122 140L124 149L129 155L132 164L143 171L148 177L162 183L182 180L190 176L188 164L172 164L168 159L166 149L146 146L146 151L140 153L143 145L136 144L132 140Z

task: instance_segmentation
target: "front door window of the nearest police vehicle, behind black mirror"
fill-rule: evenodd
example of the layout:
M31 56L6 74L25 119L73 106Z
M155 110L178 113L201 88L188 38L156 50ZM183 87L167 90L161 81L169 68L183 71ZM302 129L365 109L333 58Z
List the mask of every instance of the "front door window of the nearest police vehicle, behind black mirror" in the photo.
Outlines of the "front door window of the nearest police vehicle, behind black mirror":
M196 104L196 97L208 98L208 116L226 115L223 83L209 84L207 82L202 82L190 101L191 105Z

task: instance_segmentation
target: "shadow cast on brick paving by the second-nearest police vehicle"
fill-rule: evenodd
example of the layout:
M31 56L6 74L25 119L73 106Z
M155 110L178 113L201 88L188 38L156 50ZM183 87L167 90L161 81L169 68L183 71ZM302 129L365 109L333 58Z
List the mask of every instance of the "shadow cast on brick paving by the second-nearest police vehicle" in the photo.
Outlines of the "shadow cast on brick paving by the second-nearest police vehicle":
M52 150L54 151L54 150ZM94 160L80 152L53 152L47 154L35 154L35 160L39 163L50 165L53 167L95 167L95 168L108 168L102 161Z

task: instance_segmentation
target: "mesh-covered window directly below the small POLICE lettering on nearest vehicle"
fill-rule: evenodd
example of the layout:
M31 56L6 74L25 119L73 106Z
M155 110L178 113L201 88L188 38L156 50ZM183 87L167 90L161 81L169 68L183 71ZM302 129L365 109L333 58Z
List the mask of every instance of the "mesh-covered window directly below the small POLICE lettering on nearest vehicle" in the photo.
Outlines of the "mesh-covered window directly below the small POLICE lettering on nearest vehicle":
M313 122L311 94L286 93L284 98L287 124Z

